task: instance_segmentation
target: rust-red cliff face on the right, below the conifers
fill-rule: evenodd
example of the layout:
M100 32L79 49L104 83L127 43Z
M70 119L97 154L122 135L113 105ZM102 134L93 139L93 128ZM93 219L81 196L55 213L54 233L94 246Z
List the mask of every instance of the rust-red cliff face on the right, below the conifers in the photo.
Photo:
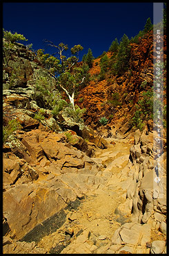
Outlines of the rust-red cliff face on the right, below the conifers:
M163 37L163 58L166 61L166 35ZM86 108L86 124L96 128L100 117L105 116L110 126L126 123L135 112L135 104L142 99L142 93L153 85L153 35L144 36L138 44L132 43L128 71L122 76L109 76L105 80L90 81L82 89L76 103ZM108 52L110 58L113 53ZM94 60L90 74L99 76L101 58ZM166 80L164 80L164 88ZM112 94L118 94L119 105L113 101ZM164 94L166 90L164 89Z

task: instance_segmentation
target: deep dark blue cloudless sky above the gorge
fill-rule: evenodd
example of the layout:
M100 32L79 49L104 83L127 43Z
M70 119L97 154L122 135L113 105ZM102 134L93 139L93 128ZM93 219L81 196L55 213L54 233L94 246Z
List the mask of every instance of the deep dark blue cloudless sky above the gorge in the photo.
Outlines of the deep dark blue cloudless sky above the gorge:
M153 22L153 3L3 3L3 28L23 34L24 44L32 43L34 50L54 53L43 42L48 39L69 48L81 44L81 56L90 48L95 58L108 51L115 37L137 35L148 17Z

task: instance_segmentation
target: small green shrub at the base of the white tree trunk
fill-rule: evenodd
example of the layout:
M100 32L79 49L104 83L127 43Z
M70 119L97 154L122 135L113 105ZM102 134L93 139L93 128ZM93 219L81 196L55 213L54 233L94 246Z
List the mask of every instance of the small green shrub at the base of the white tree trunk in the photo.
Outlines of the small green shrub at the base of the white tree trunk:
M64 110L64 113L67 115L67 117L72 118L77 123L83 123L83 114L86 112L86 108L80 109L78 105L75 105L75 108L73 109L72 106L66 107Z

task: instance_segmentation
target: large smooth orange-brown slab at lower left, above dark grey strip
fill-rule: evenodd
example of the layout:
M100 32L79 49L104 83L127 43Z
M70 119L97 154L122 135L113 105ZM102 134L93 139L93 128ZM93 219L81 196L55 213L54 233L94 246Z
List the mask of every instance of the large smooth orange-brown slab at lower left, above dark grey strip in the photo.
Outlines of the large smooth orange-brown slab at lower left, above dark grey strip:
M48 207L46 207L48 205ZM36 184L22 184L3 194L3 211L11 230L21 239L35 225L65 207L54 189Z

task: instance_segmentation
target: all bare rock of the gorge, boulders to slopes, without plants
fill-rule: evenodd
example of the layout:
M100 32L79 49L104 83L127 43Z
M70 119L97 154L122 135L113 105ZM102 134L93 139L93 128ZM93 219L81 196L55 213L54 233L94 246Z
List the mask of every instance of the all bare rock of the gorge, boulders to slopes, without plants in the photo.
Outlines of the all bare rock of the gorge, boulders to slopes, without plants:
M91 81L80 92L78 105L90 106L86 124L96 127L99 117L112 113L112 107L101 105L109 92L129 92L137 102L141 81L149 79L152 86L150 72L143 73L145 65L152 70L152 55L145 55L149 40L133 44L130 79L125 74L109 85ZM54 118L34 96L41 77L54 87L36 55L17 43L5 44L3 54L3 125L12 119L21 123L3 144L3 253L165 253L165 134L157 184L155 131L151 122L141 133L130 129L126 119L134 106L129 99L97 131L64 112ZM95 63L90 73L97 72ZM42 109L43 118L35 119ZM105 228L107 234L101 233Z

